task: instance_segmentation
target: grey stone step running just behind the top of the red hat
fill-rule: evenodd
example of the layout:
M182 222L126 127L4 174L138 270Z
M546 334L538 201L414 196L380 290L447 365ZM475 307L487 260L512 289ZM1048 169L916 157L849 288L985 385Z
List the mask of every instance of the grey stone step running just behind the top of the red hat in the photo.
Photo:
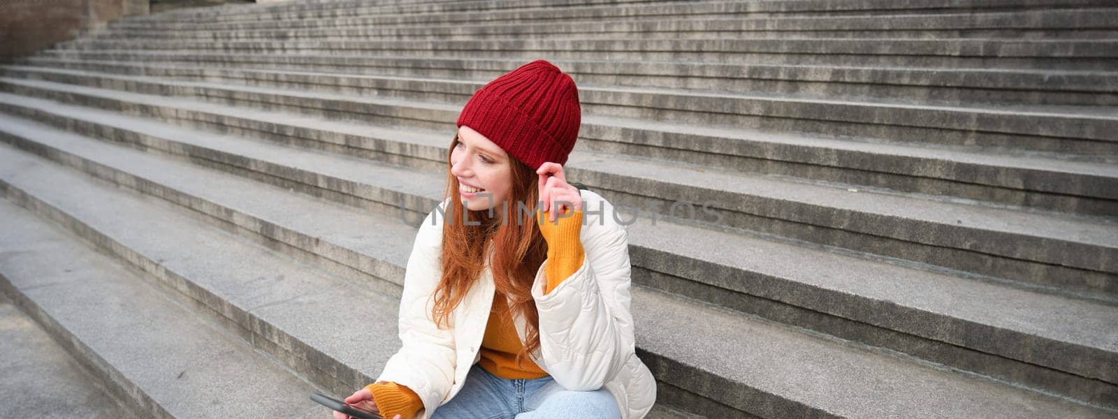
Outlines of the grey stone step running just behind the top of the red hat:
M381 95L398 77L491 80L520 59L370 58L281 55L50 53L18 64L157 77L205 78L253 84L282 83ZM754 64L549 60L579 86L632 86L718 92L761 92L788 96L873 98L910 103L1017 105L1118 105L1118 73L975 68L790 66ZM203 66L200 66L203 65ZM310 73L310 74L301 74ZM618 76L624 75L624 76ZM411 91L413 95L426 92ZM435 92L437 94L437 92Z

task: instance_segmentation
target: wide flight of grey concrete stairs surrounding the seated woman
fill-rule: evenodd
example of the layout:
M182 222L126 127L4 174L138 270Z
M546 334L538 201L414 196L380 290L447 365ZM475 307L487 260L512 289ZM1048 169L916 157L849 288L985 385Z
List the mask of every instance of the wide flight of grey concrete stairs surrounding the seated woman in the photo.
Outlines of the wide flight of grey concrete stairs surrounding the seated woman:
M634 220L651 417L1118 415L1118 9L898 3L124 19L0 66L0 289L139 416L328 417L398 349L462 105L546 58Z

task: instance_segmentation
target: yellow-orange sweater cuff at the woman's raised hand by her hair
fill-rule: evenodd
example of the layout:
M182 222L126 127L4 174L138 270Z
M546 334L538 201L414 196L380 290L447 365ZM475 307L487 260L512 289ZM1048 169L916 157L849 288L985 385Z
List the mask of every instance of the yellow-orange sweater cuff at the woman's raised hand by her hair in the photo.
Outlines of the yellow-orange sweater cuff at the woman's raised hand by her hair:
M571 213L568 210L565 213ZM567 218L550 220L550 211L540 211L540 232L548 242L548 261L543 268L547 283L543 294L551 293L565 279L582 266L586 253L579 234L582 230L582 210L574 210Z

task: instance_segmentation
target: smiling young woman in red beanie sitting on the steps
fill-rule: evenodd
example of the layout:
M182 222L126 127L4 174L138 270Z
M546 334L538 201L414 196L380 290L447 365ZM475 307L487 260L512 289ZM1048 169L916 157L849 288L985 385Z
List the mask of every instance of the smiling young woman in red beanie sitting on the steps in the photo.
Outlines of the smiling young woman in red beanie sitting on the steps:
M408 258L404 345L347 402L400 419L647 415L626 230L562 169L580 123L574 80L547 60L474 93Z

